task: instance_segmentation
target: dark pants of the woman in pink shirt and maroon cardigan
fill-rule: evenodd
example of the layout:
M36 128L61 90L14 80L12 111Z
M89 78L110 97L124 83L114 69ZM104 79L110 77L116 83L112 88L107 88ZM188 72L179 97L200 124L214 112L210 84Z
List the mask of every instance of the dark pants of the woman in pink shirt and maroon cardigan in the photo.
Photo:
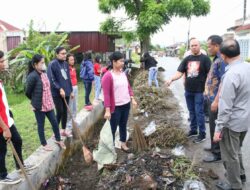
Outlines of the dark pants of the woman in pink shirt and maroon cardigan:
M130 110L130 102L122 106L115 106L114 113L111 114L110 125L115 140L115 132L119 125L120 141L126 142L127 140L127 122Z

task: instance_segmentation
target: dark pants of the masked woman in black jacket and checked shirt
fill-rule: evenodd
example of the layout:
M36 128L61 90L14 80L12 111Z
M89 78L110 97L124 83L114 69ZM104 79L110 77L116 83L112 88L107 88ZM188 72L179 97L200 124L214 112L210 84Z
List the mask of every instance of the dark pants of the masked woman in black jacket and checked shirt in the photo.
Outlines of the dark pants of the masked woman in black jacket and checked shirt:
M61 140L60 132L59 132L59 126L56 120L56 116L54 113L54 110L48 111L48 112L42 112L42 111L34 111L37 121L37 129L38 129L38 135L41 142L41 145L45 146L47 145L47 141L45 139L44 135L44 122L45 122L45 116L49 119L49 122L52 126L52 130L55 134L55 138L57 141Z

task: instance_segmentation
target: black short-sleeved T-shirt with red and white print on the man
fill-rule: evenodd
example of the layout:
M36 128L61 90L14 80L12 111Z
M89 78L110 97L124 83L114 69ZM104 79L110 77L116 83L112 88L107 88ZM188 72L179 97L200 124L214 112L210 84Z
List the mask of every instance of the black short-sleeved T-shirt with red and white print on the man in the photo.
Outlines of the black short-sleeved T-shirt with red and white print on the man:
M185 73L185 90L194 93L203 93L211 60L204 54L189 55L178 67L178 71Z

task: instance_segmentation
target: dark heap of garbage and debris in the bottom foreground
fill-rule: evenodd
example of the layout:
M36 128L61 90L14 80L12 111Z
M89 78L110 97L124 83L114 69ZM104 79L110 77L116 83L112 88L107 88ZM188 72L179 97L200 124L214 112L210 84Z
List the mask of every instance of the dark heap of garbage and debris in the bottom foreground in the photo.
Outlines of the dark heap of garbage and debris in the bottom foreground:
M104 169L96 189L182 189L191 177L199 178L185 157L156 151L130 154L125 162Z

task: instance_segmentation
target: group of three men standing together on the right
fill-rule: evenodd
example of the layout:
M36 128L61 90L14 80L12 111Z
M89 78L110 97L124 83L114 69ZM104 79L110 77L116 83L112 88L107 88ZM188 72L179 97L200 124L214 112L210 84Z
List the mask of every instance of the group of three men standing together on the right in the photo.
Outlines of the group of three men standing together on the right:
M190 55L180 63L174 76L166 81L185 77L185 99L190 117L188 138L193 142L206 139L204 97L208 100L211 156L204 162L223 161L228 182L219 181L223 190L242 189L246 175L241 147L250 123L250 64L240 57L237 40L224 40L212 35L207 40L210 58L201 52L196 38L190 39Z

